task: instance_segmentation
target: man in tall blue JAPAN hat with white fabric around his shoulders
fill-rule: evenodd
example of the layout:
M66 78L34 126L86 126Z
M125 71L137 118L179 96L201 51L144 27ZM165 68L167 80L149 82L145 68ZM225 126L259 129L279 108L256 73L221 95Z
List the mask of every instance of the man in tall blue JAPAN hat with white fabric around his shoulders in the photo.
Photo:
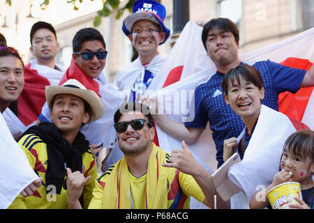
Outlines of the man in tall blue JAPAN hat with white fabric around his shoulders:
M165 16L165 6L157 1L137 0L133 5L133 13L124 19L122 31L128 36L139 56L117 72L115 84L121 91L130 91L129 102L140 102L147 89L158 90L153 89L150 84L166 57L158 52L158 46L165 43L170 36L170 30L163 24ZM119 148L114 149L105 161L106 167L110 167L123 156Z

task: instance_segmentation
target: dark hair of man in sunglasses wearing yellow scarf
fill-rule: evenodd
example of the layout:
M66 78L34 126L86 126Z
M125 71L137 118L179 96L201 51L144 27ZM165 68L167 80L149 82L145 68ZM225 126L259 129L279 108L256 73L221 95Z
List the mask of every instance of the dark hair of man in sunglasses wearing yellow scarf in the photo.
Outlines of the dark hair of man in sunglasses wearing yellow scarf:
M149 128L154 126L154 119L151 116L151 111L149 107L147 107L146 105L142 103L135 103L135 102L122 104L120 108L117 110L117 112L114 114L114 123L118 123L121 116L125 114L126 112L133 112L133 111L141 112L142 114L144 114L144 116L147 118L149 125L151 125L149 126Z

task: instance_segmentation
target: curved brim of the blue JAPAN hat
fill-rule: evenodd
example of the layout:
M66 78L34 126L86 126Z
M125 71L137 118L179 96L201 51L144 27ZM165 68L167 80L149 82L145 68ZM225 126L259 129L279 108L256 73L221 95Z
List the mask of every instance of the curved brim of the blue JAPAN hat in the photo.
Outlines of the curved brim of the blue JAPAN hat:
M165 40L163 41L163 43L165 43L165 41L169 38L170 29L167 29L165 24L163 24L163 21L160 20L160 18L158 18L158 16L154 15L153 13L146 12L132 13L128 15L128 17L124 19L124 23L122 25L122 31L124 31L124 34L126 34L126 36L130 35L130 33L132 33L133 25L135 24L135 22L140 20L149 20L160 25L161 31L166 33ZM160 43L159 45L162 45L163 43Z

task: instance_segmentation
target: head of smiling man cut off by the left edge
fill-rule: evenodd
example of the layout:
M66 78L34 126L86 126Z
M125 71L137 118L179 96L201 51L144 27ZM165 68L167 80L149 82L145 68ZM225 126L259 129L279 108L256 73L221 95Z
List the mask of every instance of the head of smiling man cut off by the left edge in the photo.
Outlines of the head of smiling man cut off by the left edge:
M17 100L24 86L24 63L12 47L0 47L0 112Z

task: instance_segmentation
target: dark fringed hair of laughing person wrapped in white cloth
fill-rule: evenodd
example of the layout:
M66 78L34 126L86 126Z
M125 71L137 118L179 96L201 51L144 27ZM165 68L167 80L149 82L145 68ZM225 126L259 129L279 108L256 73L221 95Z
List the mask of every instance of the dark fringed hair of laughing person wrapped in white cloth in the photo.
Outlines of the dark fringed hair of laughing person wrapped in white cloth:
M228 95L228 82L234 84L235 81L237 83L240 83L240 77L243 77L247 82L251 82L255 86L257 86L258 89L263 88L263 80L262 76L260 75L260 72L256 70L253 66L249 66L247 64L240 64L236 68L231 68L228 70L228 72L223 77L223 93L225 95Z

